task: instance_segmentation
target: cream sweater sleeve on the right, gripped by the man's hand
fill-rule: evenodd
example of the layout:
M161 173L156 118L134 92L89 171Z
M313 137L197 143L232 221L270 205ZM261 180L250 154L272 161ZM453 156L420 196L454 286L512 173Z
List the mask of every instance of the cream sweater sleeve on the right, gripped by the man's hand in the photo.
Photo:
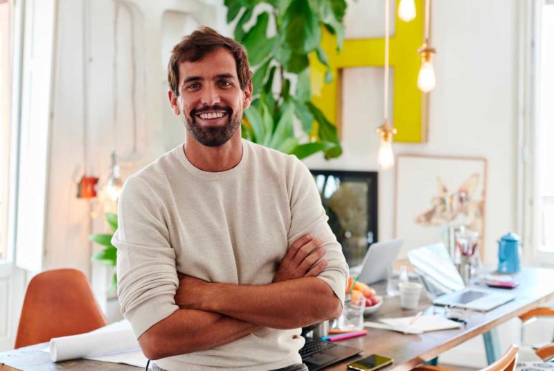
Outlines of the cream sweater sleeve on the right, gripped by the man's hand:
M307 233L323 239L323 246L327 249L325 259L328 265L319 278L328 284L344 306L344 291L348 279L348 265L327 221L328 216L321 204L312 173L303 162L294 158L292 177L289 183L289 198L291 210L291 226L287 236L289 247L298 238Z

